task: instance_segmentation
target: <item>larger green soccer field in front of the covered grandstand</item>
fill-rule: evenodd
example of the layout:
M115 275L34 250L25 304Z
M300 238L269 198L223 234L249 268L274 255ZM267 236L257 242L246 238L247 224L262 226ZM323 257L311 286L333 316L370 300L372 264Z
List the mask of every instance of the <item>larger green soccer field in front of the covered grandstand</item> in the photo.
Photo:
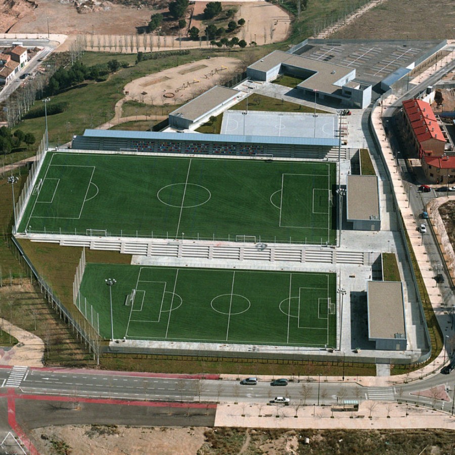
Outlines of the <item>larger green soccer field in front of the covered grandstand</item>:
M18 232L333 244L334 163L48 153Z

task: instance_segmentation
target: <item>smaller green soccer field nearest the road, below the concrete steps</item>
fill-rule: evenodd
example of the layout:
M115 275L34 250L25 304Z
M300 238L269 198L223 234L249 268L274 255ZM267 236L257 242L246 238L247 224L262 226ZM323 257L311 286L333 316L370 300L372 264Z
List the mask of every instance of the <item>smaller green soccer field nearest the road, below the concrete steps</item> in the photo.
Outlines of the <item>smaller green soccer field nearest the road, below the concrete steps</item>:
M109 277L115 339L336 345L335 274L87 264L77 305L105 338Z

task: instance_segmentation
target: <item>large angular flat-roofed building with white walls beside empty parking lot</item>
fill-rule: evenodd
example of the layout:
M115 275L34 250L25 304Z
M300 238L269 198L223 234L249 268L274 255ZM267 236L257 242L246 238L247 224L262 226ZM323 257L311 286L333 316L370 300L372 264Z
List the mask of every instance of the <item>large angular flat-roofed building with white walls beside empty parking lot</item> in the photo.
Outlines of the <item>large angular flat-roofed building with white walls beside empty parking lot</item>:
M272 81L279 74L303 79L296 88L316 98L329 98L341 106L365 109L371 103L371 85L356 82L355 69L274 51L247 68L247 76Z

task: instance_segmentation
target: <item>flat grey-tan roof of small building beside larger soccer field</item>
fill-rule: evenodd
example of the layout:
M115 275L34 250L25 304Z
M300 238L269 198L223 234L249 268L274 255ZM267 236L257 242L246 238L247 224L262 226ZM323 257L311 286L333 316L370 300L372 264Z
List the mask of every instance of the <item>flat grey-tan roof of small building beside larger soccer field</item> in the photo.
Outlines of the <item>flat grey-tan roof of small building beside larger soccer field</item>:
M380 219L378 177L347 176L347 219Z

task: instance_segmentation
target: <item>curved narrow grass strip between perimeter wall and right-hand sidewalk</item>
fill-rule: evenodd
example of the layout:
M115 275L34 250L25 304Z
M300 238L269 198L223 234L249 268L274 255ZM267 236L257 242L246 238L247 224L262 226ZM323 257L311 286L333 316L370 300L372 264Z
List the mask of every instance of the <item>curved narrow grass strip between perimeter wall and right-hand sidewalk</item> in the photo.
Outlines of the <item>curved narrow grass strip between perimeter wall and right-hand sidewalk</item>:
M425 283L423 281L422 274L420 272L420 268L416 260L416 255L414 254L414 250L409 240L409 236L407 235L406 231L404 231L404 233L406 236L408 249L411 252L412 266L414 268L414 273L417 278L417 286L419 289L420 298L422 299L425 320L427 321L428 332L430 334L431 356L425 363L413 365L411 366L411 368L410 366L406 365L394 365L393 368L391 369L391 373L394 375L400 375L410 370L413 371L423 368L425 365L428 365L428 363L431 363L439 355L439 352L441 352L441 349L443 347L443 335L441 332L441 328L439 327L438 320L436 318L436 315L434 314L434 310L431 305L430 298L428 296L427 288L425 287Z

